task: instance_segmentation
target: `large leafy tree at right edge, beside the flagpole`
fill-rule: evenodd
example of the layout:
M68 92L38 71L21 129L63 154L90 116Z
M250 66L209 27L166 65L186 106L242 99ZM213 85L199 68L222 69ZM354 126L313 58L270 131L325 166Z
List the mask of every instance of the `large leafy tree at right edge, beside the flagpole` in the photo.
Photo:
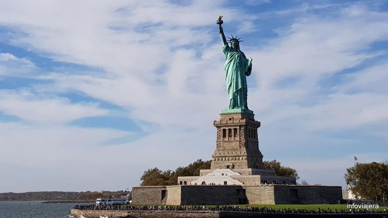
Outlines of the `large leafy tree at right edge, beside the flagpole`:
M388 197L388 163L357 163L346 169L346 184L357 199L383 201Z

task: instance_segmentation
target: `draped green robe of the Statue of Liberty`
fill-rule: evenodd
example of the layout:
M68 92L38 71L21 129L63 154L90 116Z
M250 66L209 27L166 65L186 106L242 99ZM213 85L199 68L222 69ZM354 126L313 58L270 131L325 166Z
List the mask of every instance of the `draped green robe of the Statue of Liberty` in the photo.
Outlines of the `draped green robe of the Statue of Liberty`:
M222 48L225 54L225 80L229 96L228 109L247 109L246 77L251 72L251 60L247 59L242 51L233 51L232 47L225 44Z

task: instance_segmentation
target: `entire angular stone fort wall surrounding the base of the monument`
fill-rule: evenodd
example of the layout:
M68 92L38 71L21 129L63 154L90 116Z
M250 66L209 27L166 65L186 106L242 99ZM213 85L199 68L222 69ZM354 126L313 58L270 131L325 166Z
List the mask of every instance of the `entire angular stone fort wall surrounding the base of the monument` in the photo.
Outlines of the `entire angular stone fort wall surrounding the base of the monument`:
M162 198L164 191L164 198ZM333 204L342 200L341 186L319 185L173 185L140 186L132 203L143 205Z

